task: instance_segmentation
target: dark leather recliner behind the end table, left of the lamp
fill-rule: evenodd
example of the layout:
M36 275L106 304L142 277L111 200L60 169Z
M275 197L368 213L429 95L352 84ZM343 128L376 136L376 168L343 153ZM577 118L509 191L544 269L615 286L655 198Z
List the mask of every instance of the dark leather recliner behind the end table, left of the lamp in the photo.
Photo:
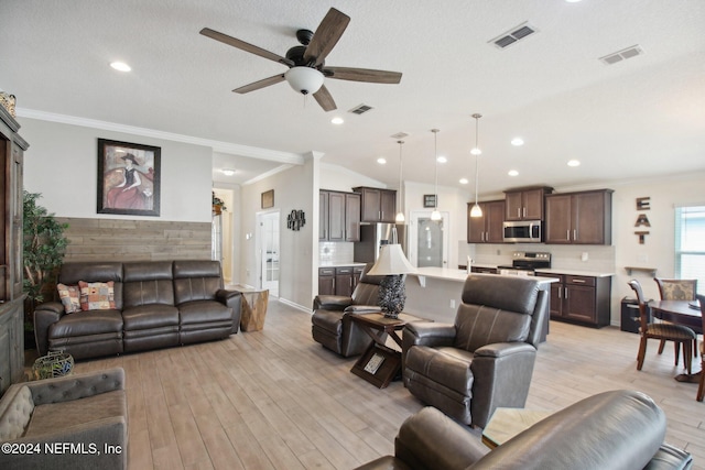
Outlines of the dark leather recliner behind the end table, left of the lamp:
M313 299L313 339L344 358L361 354L372 341L350 319L350 315L381 311L378 305L379 285L384 276L367 274L372 265L368 263L362 270L352 296L317 295Z

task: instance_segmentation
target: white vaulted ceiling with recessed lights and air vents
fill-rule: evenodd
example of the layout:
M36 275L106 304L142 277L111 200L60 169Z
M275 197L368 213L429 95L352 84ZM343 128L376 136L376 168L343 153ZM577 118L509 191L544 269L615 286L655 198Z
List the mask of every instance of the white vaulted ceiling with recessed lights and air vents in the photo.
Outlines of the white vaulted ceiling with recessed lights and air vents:
M399 85L327 79L332 112L285 83L234 94L286 68L198 34L208 26L284 55L330 7L351 21L326 65L401 72ZM524 23L535 32L492 43ZM0 89L17 96L20 120L70 117L210 144L214 170L239 170L218 179L240 183L316 151L395 186L398 132L409 134L405 178L432 183L437 128L448 160L438 184L474 192L479 112L482 195L705 170L703 24L702 0L2 0ZM642 54L599 59L632 46ZM348 112L361 103L372 109Z

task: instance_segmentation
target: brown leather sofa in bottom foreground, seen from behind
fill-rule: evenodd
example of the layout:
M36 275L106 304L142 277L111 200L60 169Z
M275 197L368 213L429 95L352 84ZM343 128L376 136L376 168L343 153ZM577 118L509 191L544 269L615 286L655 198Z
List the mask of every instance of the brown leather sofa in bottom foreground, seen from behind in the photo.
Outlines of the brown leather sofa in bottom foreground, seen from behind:
M663 441L663 411L641 392L618 390L579 401L494 450L433 407L408 418L394 456L357 470L688 469L690 453Z

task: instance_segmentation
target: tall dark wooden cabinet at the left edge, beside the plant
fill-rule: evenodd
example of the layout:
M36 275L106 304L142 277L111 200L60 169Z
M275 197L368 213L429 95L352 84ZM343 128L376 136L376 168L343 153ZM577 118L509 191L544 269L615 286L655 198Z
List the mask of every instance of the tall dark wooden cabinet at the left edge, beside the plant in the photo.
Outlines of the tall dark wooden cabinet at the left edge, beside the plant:
M24 374L22 167L28 143L0 106L0 395Z

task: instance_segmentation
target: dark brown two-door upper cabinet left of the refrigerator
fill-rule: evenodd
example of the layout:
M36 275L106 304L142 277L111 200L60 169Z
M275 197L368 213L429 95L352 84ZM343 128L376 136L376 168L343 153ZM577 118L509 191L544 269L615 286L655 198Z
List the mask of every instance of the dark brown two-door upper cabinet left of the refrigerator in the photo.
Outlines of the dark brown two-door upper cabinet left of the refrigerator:
M321 190L318 197L318 241L358 241L360 195Z

